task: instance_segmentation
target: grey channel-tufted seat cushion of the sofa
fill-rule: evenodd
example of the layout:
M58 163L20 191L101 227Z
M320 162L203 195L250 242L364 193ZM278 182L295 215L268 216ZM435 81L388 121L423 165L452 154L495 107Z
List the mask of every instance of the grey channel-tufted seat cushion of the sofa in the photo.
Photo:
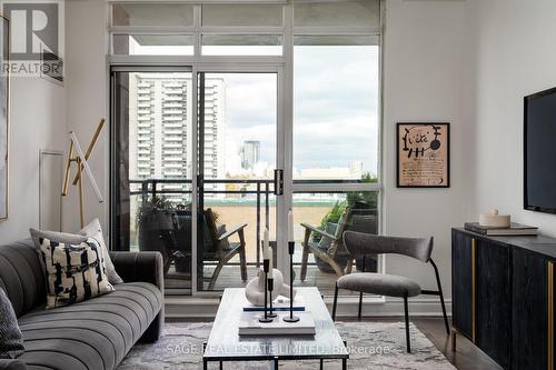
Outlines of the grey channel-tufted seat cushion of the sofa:
M33 364L113 369L157 317L161 302L160 290L153 284L129 282L89 301L32 311L19 320L26 342L19 360L29 369Z

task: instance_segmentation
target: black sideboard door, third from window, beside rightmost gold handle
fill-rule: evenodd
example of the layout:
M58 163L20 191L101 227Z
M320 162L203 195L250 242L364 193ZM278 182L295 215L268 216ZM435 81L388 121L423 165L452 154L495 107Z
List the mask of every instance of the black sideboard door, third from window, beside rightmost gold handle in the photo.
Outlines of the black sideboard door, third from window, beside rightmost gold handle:
M548 261L514 249L512 294L513 369L548 369Z

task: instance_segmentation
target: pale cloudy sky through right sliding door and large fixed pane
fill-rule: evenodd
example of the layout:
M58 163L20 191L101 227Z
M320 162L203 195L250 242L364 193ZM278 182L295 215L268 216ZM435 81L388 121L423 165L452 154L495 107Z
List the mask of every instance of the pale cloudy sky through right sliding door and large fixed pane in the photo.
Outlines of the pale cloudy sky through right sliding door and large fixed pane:
M294 167L349 167L377 173L378 47L295 48ZM276 162L277 80L272 73L219 74L226 81L226 154L236 163L245 140ZM236 158L236 160L234 160Z

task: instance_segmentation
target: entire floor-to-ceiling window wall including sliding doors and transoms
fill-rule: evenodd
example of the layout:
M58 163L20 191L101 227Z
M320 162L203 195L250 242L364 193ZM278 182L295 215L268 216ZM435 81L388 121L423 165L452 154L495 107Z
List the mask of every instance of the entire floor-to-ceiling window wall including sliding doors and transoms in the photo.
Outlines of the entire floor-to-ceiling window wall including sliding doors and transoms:
M361 270L335 236L379 232L380 0L109 7L112 248L159 250L167 293L210 294L257 273L267 227L288 268L291 208L295 284Z

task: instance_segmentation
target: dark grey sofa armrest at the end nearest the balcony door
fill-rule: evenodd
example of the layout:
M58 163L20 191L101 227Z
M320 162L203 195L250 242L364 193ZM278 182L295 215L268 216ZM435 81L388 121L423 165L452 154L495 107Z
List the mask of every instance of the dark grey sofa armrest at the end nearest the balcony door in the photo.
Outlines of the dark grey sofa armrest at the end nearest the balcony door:
M110 252L116 272L125 282L145 281L165 292L163 261L159 252Z

